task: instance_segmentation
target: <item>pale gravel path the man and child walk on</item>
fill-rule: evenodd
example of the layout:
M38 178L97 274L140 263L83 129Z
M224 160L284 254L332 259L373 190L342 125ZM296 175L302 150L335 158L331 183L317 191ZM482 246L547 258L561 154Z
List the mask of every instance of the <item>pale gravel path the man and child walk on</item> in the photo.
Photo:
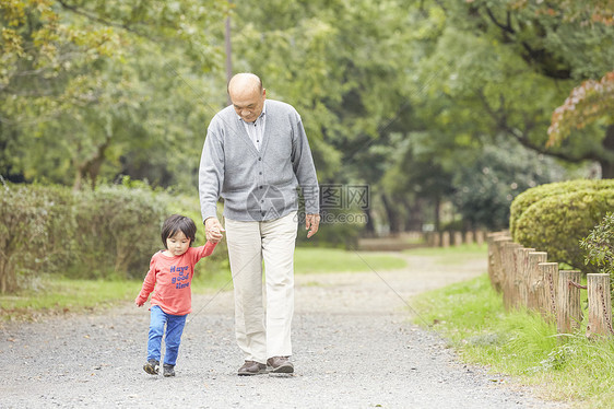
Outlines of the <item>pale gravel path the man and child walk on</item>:
M390 272L296 277L296 372L239 377L233 294L194 295L177 376L142 371L149 312L113 311L0 329L0 408L564 408L460 363L401 300L486 271L404 256Z

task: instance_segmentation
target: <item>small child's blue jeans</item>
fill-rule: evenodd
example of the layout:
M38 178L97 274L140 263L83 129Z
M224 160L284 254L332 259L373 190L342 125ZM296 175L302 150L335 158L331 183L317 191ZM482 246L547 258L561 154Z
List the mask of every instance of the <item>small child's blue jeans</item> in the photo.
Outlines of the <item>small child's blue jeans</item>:
M150 337L147 341L147 361L160 361L160 349L162 347L162 335L164 334L164 325L166 324L166 353L164 354L164 363L175 365L177 354L179 353L179 344L181 343L181 334L186 326L187 315L166 314L157 305L152 305L152 315L150 322Z

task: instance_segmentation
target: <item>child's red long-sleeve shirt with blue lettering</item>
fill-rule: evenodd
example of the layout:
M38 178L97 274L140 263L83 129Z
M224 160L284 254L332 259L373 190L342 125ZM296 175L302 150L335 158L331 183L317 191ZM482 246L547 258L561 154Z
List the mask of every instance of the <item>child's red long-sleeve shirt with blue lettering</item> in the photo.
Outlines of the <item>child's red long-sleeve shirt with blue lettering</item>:
M165 256L164 250L154 254L137 304L144 304L153 292L151 304L158 305L166 314L191 313L194 266L201 258L211 255L216 245L208 242L201 247L189 247L180 256Z

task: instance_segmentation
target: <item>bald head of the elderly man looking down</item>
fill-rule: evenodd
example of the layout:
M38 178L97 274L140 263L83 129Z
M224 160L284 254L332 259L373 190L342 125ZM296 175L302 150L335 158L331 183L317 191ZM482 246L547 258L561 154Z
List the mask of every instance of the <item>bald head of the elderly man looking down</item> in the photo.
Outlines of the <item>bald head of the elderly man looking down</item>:
M228 81L228 95L237 115L246 122L253 122L262 113L267 90L258 75L241 72Z

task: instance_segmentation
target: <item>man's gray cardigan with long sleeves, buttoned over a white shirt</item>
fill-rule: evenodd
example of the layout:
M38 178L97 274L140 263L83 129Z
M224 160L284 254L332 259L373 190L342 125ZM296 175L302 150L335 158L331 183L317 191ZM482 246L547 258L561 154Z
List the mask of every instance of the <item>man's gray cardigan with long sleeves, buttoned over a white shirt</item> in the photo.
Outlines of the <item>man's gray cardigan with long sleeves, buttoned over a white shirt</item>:
M297 187L305 211L319 213L319 187L300 116L291 105L267 100L264 138L256 149L233 106L219 112L206 130L199 171L202 220L224 217L265 221L298 210Z

